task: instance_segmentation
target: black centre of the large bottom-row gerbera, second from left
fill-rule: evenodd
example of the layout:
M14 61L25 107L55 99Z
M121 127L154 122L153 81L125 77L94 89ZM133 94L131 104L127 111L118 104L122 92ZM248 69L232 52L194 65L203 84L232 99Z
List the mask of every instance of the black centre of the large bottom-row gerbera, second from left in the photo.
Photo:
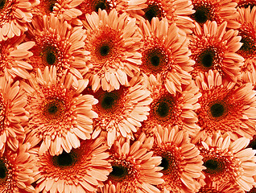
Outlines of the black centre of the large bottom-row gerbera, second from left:
M62 154L53 157L56 166L72 166L76 162L74 154L63 151Z

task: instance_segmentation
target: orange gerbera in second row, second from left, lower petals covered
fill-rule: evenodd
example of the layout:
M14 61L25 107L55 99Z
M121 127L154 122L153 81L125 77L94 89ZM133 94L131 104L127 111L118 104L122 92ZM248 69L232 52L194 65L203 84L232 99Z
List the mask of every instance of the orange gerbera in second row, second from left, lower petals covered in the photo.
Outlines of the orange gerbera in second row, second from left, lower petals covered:
M89 51L85 51L85 31L82 27L70 27L67 22L51 15L49 18L35 17L29 28L27 39L33 39L33 56L29 63L36 69L56 65L57 76L63 76L68 69L77 79L81 71L87 72Z

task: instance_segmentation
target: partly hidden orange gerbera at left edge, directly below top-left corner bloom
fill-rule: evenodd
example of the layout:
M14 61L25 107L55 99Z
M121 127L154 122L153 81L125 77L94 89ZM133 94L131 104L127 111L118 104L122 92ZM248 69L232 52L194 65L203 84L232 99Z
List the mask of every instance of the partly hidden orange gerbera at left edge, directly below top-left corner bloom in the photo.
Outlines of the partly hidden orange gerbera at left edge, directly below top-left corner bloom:
M23 43L25 35L7 39L0 43L0 76L14 78L16 76L27 79L30 77L27 70L31 70L31 64L27 63L33 53L28 51L35 45L32 41Z

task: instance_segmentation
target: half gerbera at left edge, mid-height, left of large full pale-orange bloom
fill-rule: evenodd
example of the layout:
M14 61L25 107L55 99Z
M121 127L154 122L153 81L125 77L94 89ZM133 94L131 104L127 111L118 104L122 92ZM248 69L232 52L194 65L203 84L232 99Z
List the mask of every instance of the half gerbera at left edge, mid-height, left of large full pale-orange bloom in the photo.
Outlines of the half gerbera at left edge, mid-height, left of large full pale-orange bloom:
M0 153L8 146L17 150L19 142L25 138L23 124L28 121L25 92L19 86L19 81L6 80L0 77Z

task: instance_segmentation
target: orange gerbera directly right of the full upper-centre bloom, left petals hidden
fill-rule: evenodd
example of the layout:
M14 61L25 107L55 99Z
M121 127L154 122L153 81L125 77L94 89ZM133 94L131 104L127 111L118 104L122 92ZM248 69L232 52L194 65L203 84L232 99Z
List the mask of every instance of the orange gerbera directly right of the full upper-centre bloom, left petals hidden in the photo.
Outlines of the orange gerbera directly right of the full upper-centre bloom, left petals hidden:
M167 19L153 18L140 23L142 35L142 64L139 68L147 76L160 74L164 84L171 84L181 92L181 84L189 84L192 65L188 39L175 23L168 26Z

